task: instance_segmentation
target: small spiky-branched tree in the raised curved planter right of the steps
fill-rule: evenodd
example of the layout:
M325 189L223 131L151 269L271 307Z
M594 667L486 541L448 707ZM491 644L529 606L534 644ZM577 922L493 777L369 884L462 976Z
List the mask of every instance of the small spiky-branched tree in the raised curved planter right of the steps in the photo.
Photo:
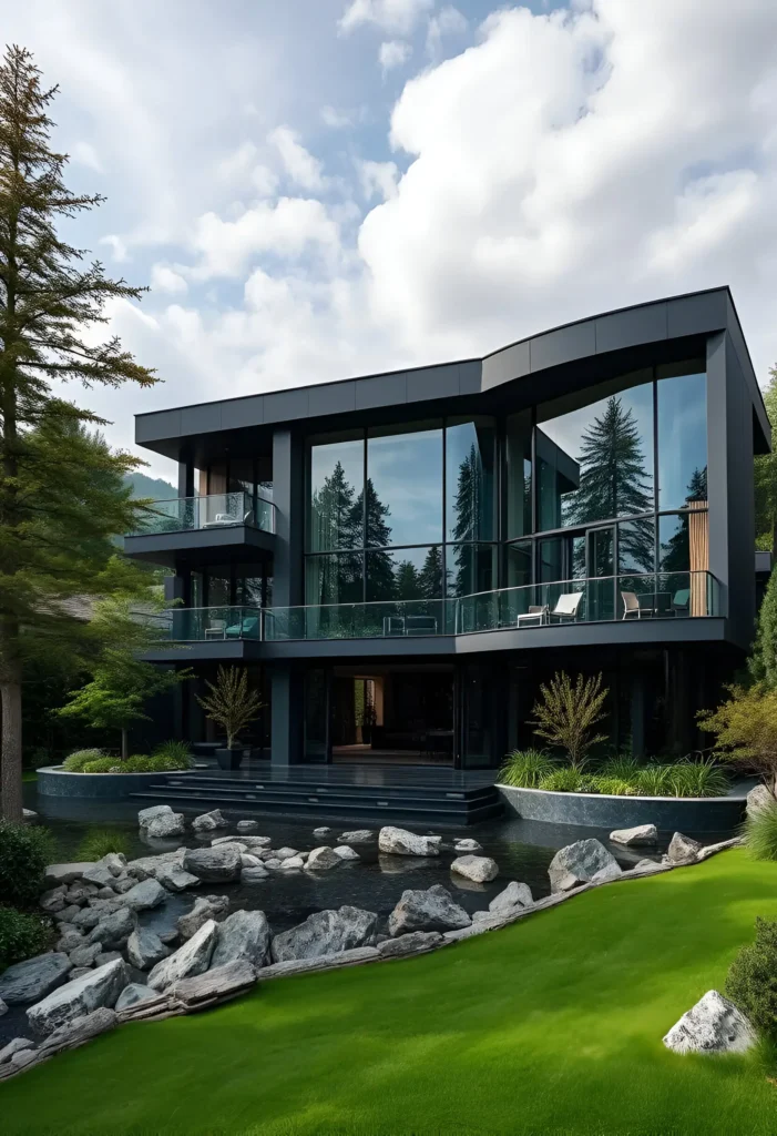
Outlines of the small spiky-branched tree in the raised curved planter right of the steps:
M534 703L534 733L564 750L573 769L582 769L591 746L607 737L593 733L606 717L602 707L609 691L602 690L600 674L596 678L577 675L573 684L563 670L547 686L544 683L540 686L540 698Z

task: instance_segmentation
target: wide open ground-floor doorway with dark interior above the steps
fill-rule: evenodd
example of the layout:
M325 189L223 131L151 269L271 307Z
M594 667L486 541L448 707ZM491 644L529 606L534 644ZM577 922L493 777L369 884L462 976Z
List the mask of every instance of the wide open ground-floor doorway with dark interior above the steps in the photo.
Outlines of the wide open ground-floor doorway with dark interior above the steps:
M454 668L313 668L306 683L305 727L309 761L453 766Z

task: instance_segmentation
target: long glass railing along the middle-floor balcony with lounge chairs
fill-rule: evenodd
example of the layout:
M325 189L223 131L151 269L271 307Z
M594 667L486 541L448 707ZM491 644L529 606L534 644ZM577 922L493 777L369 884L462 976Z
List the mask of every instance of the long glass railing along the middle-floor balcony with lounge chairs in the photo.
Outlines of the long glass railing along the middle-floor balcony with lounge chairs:
M708 571L557 580L449 600L324 603L294 608L172 608L157 620L164 638L353 640L467 635L567 624L687 619L724 615Z

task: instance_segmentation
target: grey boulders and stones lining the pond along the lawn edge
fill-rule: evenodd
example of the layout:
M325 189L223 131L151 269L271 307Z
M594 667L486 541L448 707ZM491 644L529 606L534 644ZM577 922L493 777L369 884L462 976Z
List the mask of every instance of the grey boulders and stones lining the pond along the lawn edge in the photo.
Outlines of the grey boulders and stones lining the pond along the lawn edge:
M152 842L186 832L184 816L168 805L141 810L137 819ZM234 833L226 832L229 827ZM598 840L577 841L554 857L550 895L535 899L526 883L504 879L488 907L470 913L455 897L456 885L480 887L499 876L496 860L483 855L471 837L446 841L395 826L379 832L316 828L307 850L273 847L259 832L259 821L233 826L218 809L194 818L191 828L199 846L181 844L129 860L108 853L95 862L49 864L39 905L56 925L57 938L52 950L0 974L0 1013L24 1013L22 1021L16 1019L16 1036L0 1047L0 1078L124 1021L191 1013L280 975L438 950L581 891L694 863L736 843L704 847L675 834L661 860L645 858L624 870ZM614 832L610 841L656 854L658 833L641 826ZM444 871L429 887L405 888L388 918L344 904L314 911L286 929L272 927L262 910L230 910L229 896L219 894L220 887L238 882L271 885L289 872L336 872L355 866L375 844L380 857L395 859L398 867L439 862L448 869L447 879ZM158 933L144 926L149 912L181 893L192 893L194 902L172 929ZM683 1037L687 1035L685 1028Z

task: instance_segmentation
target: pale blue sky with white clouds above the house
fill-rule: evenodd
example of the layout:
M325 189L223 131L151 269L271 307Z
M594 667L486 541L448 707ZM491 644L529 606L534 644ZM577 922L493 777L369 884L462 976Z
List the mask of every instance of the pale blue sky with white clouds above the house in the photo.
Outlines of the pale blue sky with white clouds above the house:
M777 361L774 0L0 0L107 203L75 240L152 292L134 412L481 354L729 283ZM171 476L154 459L152 471Z

